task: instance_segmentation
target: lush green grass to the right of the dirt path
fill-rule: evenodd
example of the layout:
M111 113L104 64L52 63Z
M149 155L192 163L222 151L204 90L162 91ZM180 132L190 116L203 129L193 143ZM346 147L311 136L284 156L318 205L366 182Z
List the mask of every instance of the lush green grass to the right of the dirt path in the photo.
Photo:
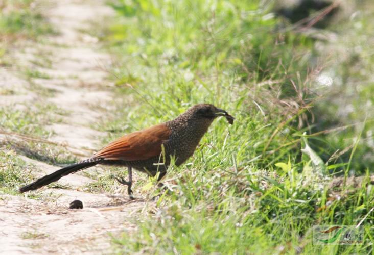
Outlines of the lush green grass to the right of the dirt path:
M119 18L101 40L118 56L118 109L97 125L109 132L105 142L196 103L236 117L232 126L216 120L193 158L170 167L172 194L135 220L136 231L113 236L114 252L372 252L372 215L363 245L312 245L312 225L356 225L374 206L372 169L361 171L361 185L331 186L349 168L339 157L326 163L326 140L311 132L315 40L264 3L111 2Z

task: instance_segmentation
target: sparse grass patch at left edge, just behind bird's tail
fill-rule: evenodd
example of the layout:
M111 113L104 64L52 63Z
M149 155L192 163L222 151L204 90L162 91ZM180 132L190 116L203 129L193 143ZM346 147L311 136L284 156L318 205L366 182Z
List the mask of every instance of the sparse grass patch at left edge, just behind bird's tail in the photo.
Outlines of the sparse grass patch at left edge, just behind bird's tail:
M60 122L61 114L67 113L49 104L25 106L23 110L13 106L0 108L0 133L8 135L0 140L0 191L20 195L17 187L35 180L32 172L36 169L17 154L57 165L76 161L65 148L45 143L42 139L52 135L45 126ZM29 197L39 198L34 194Z

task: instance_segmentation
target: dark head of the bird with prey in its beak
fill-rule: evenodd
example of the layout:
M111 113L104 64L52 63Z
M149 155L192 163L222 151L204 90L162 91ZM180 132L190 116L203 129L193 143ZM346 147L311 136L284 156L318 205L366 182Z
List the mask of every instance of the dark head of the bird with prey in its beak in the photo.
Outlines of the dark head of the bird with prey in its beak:
M219 109L211 104L195 105L188 110L195 118L206 119L213 121L215 118L223 116L228 123L232 124L234 117L229 115L225 110Z

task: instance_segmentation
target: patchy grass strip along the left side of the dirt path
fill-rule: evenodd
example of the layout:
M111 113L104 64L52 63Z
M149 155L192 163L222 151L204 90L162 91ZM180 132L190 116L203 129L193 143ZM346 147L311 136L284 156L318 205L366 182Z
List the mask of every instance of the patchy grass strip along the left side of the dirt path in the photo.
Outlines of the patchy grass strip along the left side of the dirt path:
M25 43L32 45L33 42L43 39L42 36L56 33L42 15L42 4L40 1L29 0L0 1L0 66L12 66L18 70L28 80L29 89L39 96L32 104L0 107L0 134L5 135L0 138L1 192L12 195L19 195L17 186L35 180L32 171L36 169L17 155L25 155L54 165L70 164L77 160L66 148L48 141L53 132L46 129L46 126L62 122L62 116L69 114L44 101L46 97L53 96L55 90L42 88L32 80L32 78L50 79L51 77L24 64L19 65L11 52L19 45ZM36 55L37 58L30 60L30 64L51 67L51 60L48 54L45 55L45 48L39 50L39 54ZM12 89L0 89L0 96L17 93L19 92ZM54 187L61 187L61 185L54 184ZM29 197L40 198L34 193L29 194ZM47 198L43 196L44 200Z

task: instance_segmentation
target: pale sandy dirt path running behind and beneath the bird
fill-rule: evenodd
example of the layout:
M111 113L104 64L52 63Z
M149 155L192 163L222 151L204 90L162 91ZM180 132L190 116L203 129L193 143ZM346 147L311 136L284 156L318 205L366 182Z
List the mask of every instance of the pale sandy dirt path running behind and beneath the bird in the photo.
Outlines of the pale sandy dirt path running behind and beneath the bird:
M32 45L22 58L34 58L38 52L48 53L51 64L48 67L35 67L38 72L47 74L50 79L33 78L33 86L53 91L45 103L55 104L68 112L61 123L46 127L54 131L51 140L64 142L74 147L98 149L96 141L105 135L90 128L90 124L100 120L105 114L95 106L110 107L110 83L103 66L110 65L110 56L100 53L98 40L84 31L90 28L91 21L103 20L114 15L104 0L53 0L49 1L44 13L58 35L45 38L43 44ZM27 91L27 82L5 72L8 80L18 79L15 88ZM4 78L5 79L5 78ZM5 82L10 84L9 82ZM30 85L29 85L30 86ZM14 88L13 88L14 89ZM12 95L4 102L9 104L38 101L36 91L23 96ZM46 163L23 159L40 169L40 175L50 173L58 167ZM145 206L141 200L129 201L119 194L110 197L105 194L91 194L77 190L92 180L83 175L73 174L61 182L68 183L71 189L46 189L50 199L35 200L22 196L0 196L0 253L109 253L108 233L131 231L131 219ZM83 210L68 210L69 202L83 201Z

